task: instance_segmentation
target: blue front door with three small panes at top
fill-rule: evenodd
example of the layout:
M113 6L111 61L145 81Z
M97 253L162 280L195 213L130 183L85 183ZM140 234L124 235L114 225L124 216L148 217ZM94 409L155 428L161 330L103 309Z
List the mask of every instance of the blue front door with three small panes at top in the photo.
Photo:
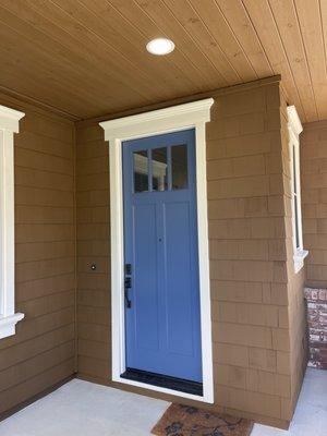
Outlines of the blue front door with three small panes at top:
M126 367L202 383L195 132L123 143Z

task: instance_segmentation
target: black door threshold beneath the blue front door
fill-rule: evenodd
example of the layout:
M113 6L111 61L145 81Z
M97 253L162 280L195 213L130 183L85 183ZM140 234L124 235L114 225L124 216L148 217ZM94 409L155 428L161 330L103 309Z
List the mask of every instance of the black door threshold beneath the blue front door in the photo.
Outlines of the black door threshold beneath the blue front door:
M203 397L203 384L147 371L126 368L121 378Z

